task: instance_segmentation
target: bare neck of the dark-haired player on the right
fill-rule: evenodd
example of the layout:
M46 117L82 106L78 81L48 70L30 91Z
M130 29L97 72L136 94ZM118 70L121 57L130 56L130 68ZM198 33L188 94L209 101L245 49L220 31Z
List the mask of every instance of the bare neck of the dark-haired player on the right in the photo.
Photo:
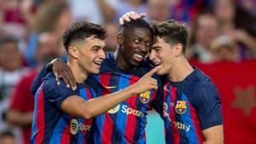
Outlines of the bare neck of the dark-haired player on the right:
M193 67L189 64L189 61L184 57L177 59L174 63L175 65L172 66L172 69L168 74L168 79L171 82L181 82L194 71Z

